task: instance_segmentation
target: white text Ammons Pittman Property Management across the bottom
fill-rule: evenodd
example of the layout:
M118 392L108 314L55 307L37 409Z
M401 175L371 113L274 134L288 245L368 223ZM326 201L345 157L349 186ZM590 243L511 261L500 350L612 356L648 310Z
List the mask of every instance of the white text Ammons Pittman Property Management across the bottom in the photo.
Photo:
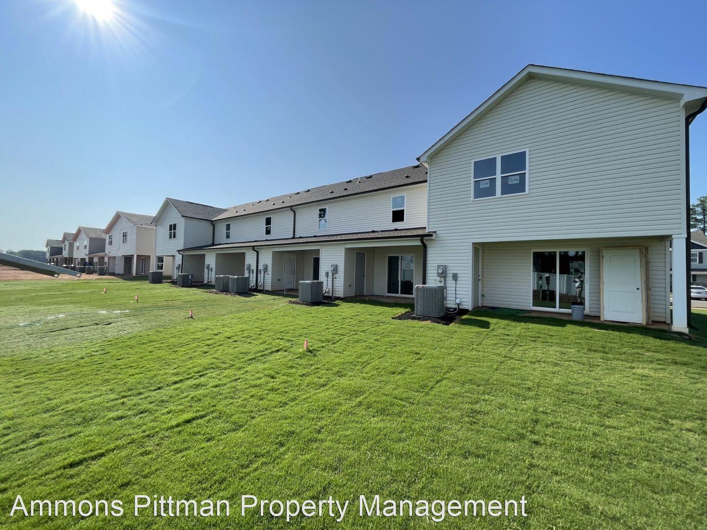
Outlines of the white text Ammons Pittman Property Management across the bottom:
M122 500L24 500L17 495L10 517L329 517L341 522L358 517L421 517L441 522L447 517L527 517L526 500L392 500L380 495L358 496L358 510L351 500L264 500L242 495L231 509L228 500L194 500L157 495L135 495L132 506Z

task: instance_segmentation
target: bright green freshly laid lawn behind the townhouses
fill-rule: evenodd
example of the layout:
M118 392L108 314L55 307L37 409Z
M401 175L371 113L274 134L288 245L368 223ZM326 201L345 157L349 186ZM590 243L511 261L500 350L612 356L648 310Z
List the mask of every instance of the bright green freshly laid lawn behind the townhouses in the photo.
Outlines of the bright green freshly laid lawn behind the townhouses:
M705 333L493 312L439 326L393 320L398 305L303 307L118 280L4 282L0 301L0 526L78 522L10 519L18 494L124 500L123 517L86 528L208 524L134 517L133 495L234 510L240 495L527 498L525 519L449 528L707 521ZM57 314L68 316L46 319ZM707 330L707 314L694 320ZM339 525L240 512L210 524L433 524L349 512Z

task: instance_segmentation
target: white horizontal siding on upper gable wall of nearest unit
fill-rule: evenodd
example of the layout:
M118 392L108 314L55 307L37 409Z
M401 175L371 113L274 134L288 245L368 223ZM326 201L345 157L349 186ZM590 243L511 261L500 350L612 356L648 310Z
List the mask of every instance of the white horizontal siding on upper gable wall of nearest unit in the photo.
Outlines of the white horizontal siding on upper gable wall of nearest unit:
M531 79L431 158L428 228L448 254L469 240L681 233L683 127L674 100ZM526 148L528 194L471 200L474 160Z

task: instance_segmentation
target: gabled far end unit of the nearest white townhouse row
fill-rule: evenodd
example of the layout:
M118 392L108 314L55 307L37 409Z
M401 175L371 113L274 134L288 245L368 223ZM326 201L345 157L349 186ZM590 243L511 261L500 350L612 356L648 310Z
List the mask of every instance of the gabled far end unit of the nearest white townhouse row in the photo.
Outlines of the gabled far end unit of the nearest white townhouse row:
M224 211L216 206L165 199L152 220L156 227L156 270L175 276L177 266L182 264L180 249L210 245L214 238L211 220Z

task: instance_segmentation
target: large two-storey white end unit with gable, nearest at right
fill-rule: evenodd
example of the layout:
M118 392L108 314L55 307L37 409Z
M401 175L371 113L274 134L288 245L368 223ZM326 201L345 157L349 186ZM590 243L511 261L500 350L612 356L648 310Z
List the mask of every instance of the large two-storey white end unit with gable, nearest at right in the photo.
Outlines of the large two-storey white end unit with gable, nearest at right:
M686 132L707 88L527 66L420 157L447 304L688 329ZM670 260L674 307L670 311ZM452 279L456 275L456 281Z

